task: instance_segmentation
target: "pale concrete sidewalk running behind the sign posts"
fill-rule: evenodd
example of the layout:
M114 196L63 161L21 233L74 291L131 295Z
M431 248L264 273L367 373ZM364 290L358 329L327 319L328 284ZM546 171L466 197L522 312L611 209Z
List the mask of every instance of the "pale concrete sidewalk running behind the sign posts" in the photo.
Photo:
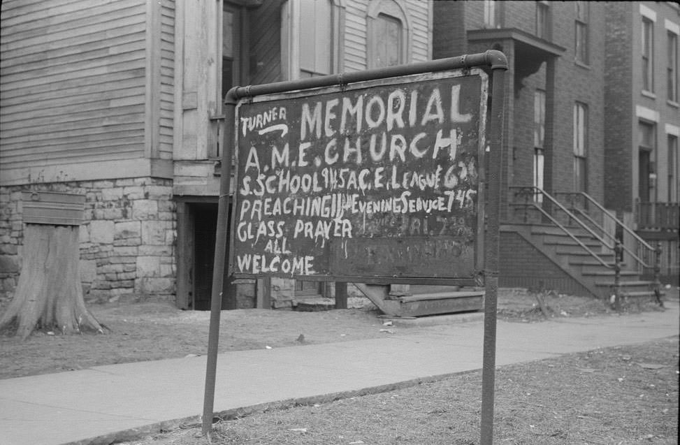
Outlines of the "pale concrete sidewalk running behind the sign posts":
M496 364L520 363L679 335L665 312L542 323L498 322ZM222 353L215 411L247 413L293 402L401 388L482 367L484 326L468 317L377 340ZM405 321L395 321L391 329ZM414 329L415 331L416 329ZM200 421L205 357L0 380L0 443L108 444Z

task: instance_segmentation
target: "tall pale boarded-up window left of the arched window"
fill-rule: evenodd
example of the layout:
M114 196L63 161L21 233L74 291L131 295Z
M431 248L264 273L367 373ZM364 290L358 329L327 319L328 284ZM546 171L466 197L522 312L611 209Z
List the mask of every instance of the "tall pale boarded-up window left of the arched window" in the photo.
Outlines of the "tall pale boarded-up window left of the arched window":
M300 77L331 74L333 57L330 0L301 0Z

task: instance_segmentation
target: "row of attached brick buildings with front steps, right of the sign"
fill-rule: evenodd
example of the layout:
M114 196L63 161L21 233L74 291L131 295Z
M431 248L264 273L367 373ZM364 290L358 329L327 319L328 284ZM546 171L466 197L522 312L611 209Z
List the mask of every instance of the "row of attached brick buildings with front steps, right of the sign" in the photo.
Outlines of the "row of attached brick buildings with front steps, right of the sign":
M677 85L677 5L444 1L434 7L435 58L495 48L510 61L500 284L607 295L619 238L630 293L649 291L642 277L651 278L654 251L636 238L644 235L640 218L645 212L633 213L650 207L635 207L642 189L642 200L649 196L667 203L664 221L675 231L664 233L675 241L663 247L661 273L665 282L677 280L678 161L673 147L680 118L677 87L672 87L675 96L667 87ZM657 85L654 92L642 87L641 40L647 22L654 27L653 59L646 59L650 81ZM639 150L637 141L646 127L638 120L651 120L665 131L653 149ZM639 153L653 153L658 172L639 173L650 165L649 160L642 163ZM656 178L656 188L650 189L646 179L640 182L639 177L648 176ZM576 217L585 222L576 224ZM651 231L659 233L659 228Z

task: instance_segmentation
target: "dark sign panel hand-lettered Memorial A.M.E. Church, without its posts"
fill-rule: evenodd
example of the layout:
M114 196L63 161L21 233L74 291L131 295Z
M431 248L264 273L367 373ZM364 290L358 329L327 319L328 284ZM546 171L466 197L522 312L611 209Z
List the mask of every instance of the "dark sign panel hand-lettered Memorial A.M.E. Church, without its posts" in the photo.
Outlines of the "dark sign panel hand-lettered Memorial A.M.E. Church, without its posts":
M481 284L477 68L240 101L235 277Z

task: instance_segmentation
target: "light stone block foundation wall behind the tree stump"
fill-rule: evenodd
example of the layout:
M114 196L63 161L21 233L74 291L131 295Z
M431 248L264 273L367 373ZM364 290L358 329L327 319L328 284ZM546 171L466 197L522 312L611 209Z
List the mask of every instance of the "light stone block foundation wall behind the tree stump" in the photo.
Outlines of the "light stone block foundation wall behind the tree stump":
M172 182L154 178L0 188L0 300L12 298L22 259L22 191L85 195L80 277L85 298L174 300Z

